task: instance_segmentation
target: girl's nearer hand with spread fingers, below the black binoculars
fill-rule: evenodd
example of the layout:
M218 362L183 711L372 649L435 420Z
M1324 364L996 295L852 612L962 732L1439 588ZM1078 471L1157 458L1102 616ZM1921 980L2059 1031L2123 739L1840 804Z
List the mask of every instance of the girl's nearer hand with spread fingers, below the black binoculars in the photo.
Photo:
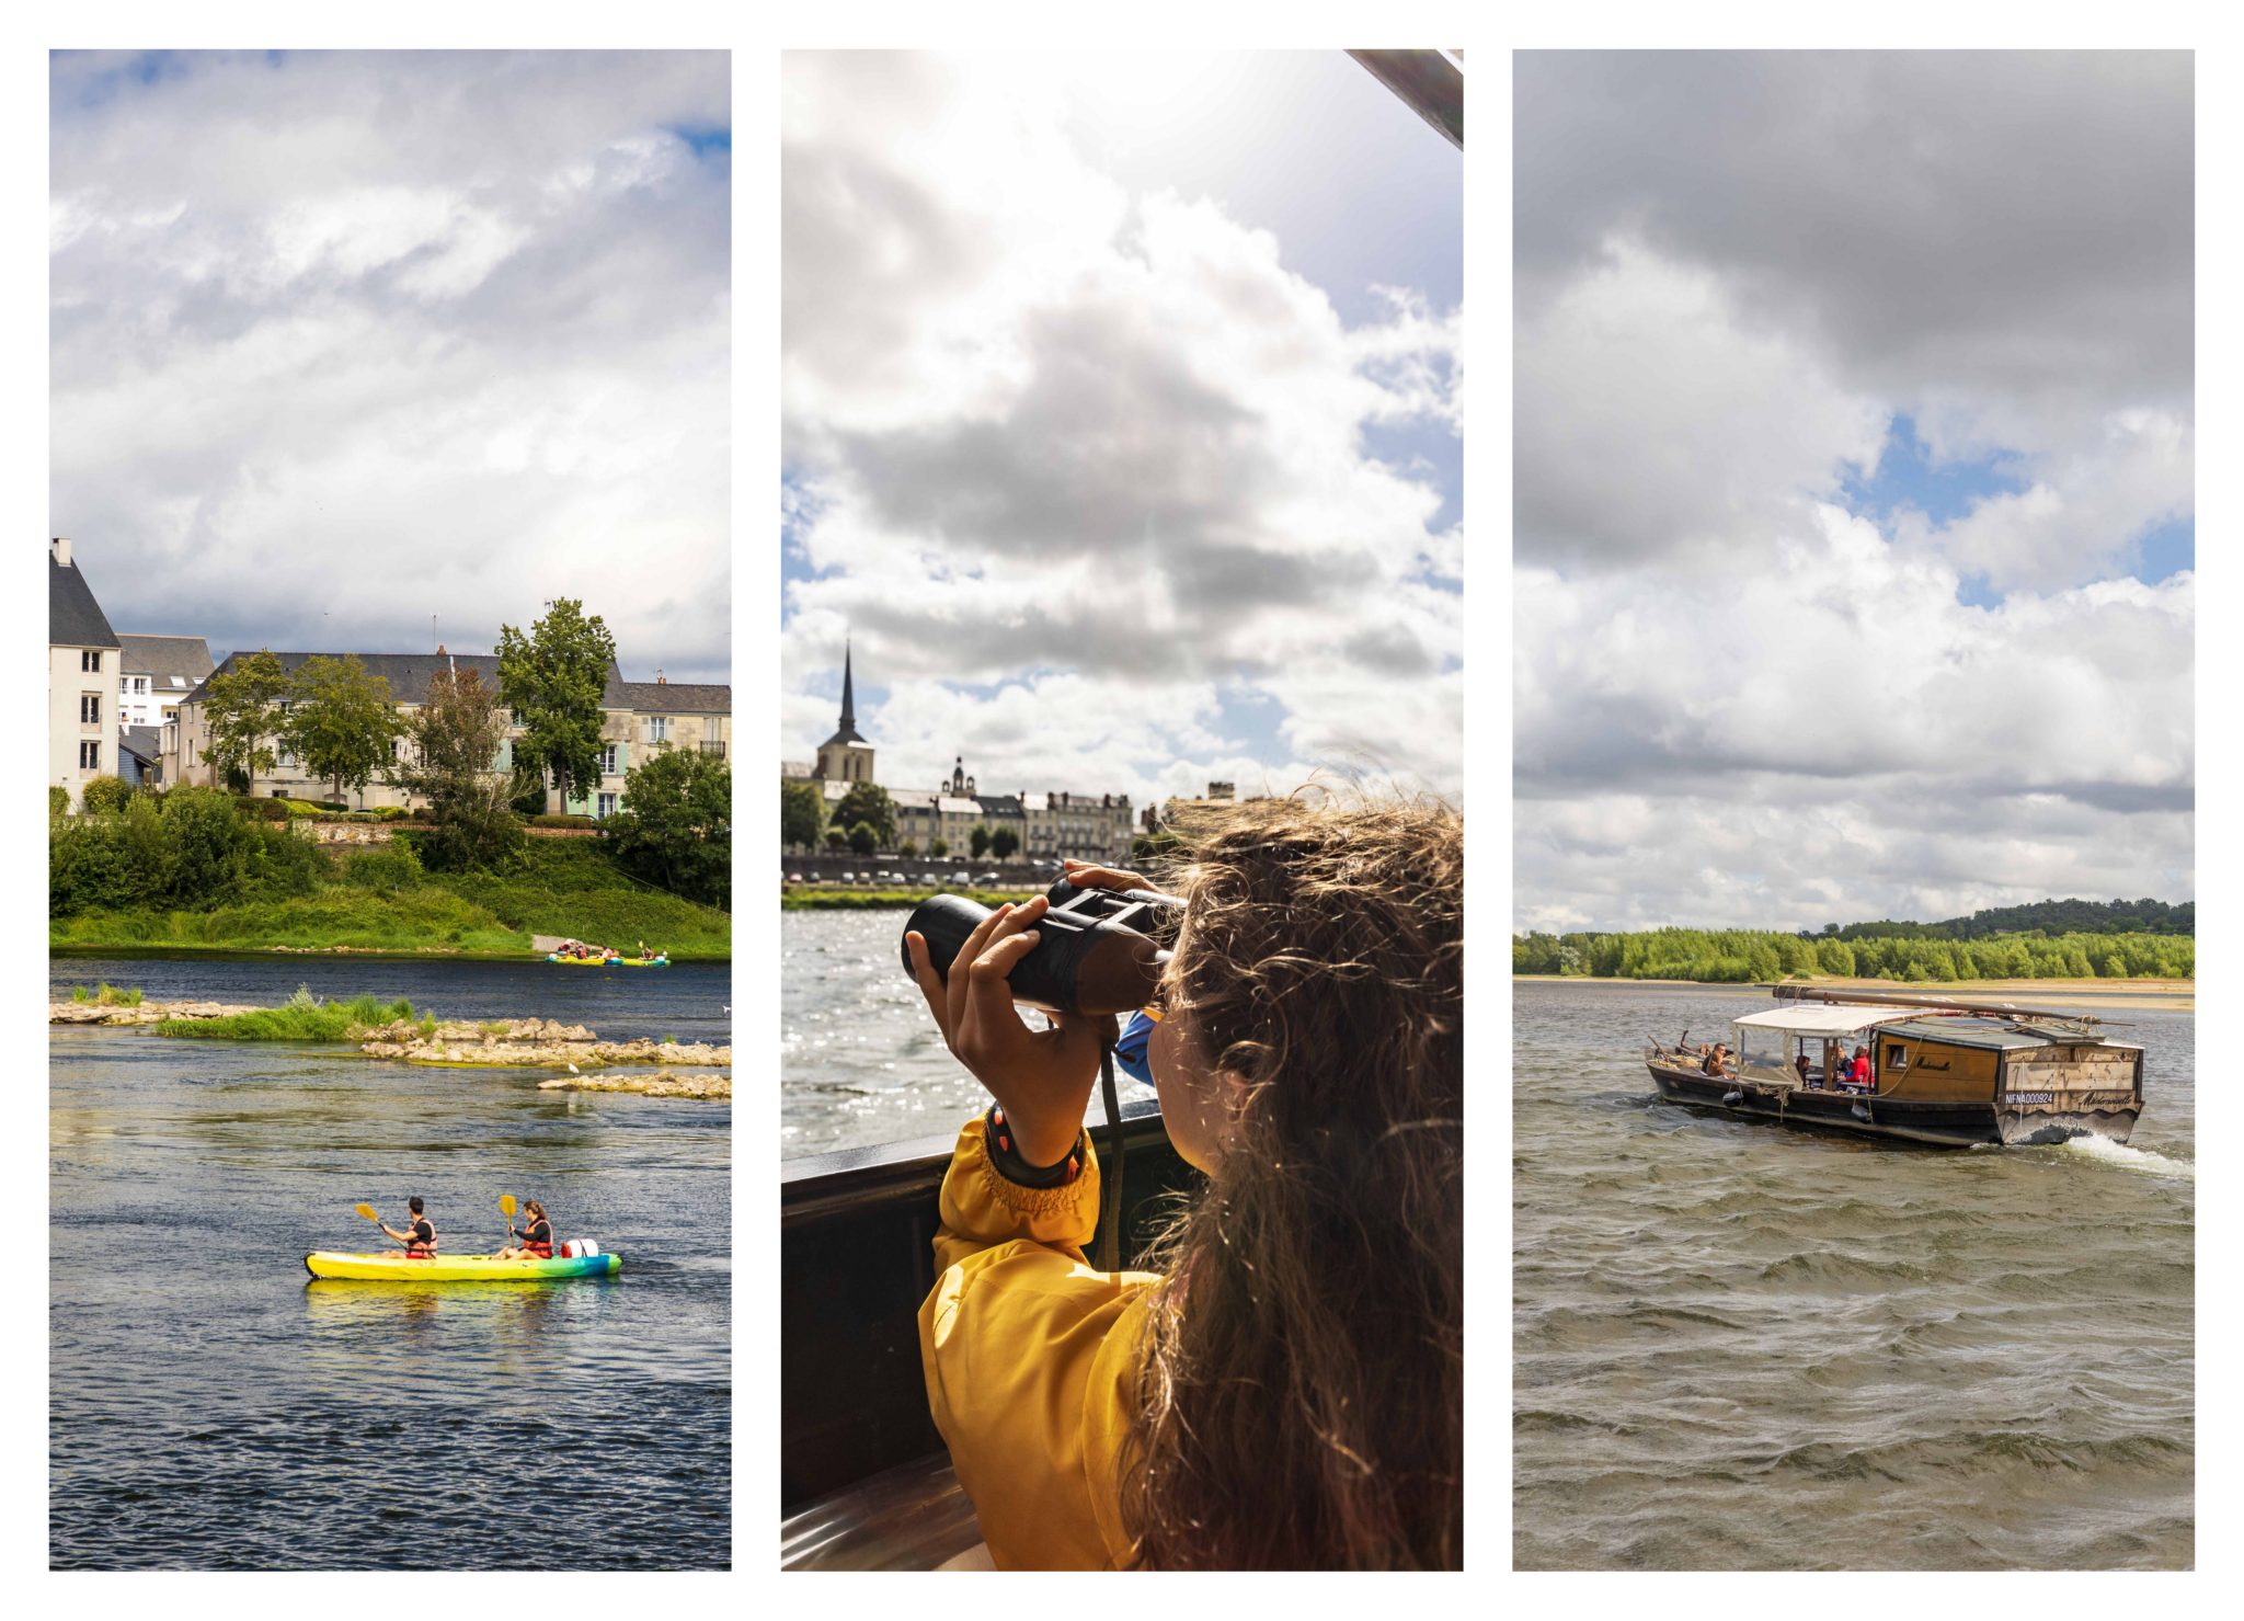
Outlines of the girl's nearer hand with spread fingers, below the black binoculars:
M1037 896L983 918L958 947L949 983L936 974L918 929L904 936L911 972L927 1010L936 1015L942 1044L996 1098L1014 1152L1030 1165L1057 1165L1075 1147L1100 1073L1100 1037L1113 1035L1113 1017L1061 1015L1048 1031L1030 1031L1021 1022L1008 974L1034 950L1032 925L1043 909L1046 900Z

